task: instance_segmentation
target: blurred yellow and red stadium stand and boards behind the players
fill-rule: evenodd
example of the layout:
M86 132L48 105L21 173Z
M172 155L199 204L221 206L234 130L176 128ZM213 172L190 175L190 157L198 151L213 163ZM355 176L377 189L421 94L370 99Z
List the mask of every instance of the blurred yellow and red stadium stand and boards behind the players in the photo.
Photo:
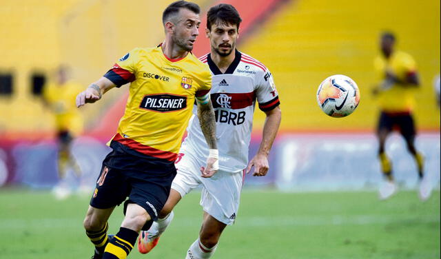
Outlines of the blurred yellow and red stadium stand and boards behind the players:
M45 76L38 80L50 80L52 70L60 63L66 63L72 67L74 79L86 87L128 50L156 45L163 39L161 14L170 2L1 1L0 76L10 76L12 88L10 95L0 94L0 186L3 183L25 183L47 187L57 177L52 141L54 122L51 114L41 105L38 95L32 94L35 91L35 75ZM208 0L195 2L205 11L218 3ZM354 154L358 160L361 159L360 154L364 154L366 161L363 163L370 168L364 167L366 171L358 174L364 182L349 180L345 182L346 186L336 187L366 187L366 183L380 180L376 142L371 134L378 110L370 89L376 81L373 58L378 54L378 35L382 30L396 32L398 47L412 54L418 63L422 85L416 91L416 123L421 132L429 133L418 138L417 145L429 158L427 163L433 164L433 170L438 169L436 173L439 174L440 146L431 145L440 141L440 111L431 83L433 76L440 73L439 1L259 0L251 6L247 1L222 2L234 4L242 14L244 23L238 49L256 57L271 70L282 103L282 127L271 154L271 165L274 166L267 178L253 178L249 183L275 184L287 189L278 184L278 179L282 179L290 186L307 188L308 184L302 181L322 186L316 185L311 178L297 182L292 180L292 170L300 170L300 167L291 163L291 171L285 168L284 161L289 160L286 150L305 148L304 152L296 151L300 154L291 154L305 159L302 163L311 165L301 167L298 174L310 172L313 177L316 172L325 172L317 163L337 160L335 153L340 145L348 147L360 139L365 141L362 147L369 146L369 149L345 149L342 156L345 157L345 165L349 166L341 165L339 168L346 170L342 174L360 168L348 161ZM205 19L201 25L198 48L194 51L198 55L208 51L203 28ZM317 87L331 74L346 74L360 87L360 105L347 118L330 118L317 107ZM0 89L6 87L3 85ZM101 158L107 152L103 143L116 130L127 96L124 88L108 92L105 99L83 109L83 113L87 114L88 127L85 136L76 142L74 154L82 160L79 161L82 168L90 168L89 174L98 174ZM262 112L256 112L255 116L252 152L258 147L265 120ZM314 134L310 135L311 132ZM390 142L401 145L399 138L391 138ZM335 149L325 148L330 146ZM88 153L92 150L96 152ZM404 163L413 163L404 153L395 155L393 160L403 158L407 160ZM47 177L40 177L43 174ZM397 172L397 176L400 174ZM401 175L409 184L416 178L416 174ZM285 176L291 177L291 182L283 178Z

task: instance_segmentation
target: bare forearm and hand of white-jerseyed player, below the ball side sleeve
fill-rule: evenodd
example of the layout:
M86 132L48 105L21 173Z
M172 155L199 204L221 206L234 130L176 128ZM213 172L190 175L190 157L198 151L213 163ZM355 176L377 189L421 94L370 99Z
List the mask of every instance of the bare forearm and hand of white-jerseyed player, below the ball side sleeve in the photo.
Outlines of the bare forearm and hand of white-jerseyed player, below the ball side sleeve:
M269 169L269 150L271 150L271 146L274 143L274 138L276 138L280 120L282 119L282 112L279 106L265 112L265 114L267 114L267 118L265 118L265 125L263 125L262 142L256 156L249 161L247 166L247 174L254 167L253 176L265 176L267 174Z

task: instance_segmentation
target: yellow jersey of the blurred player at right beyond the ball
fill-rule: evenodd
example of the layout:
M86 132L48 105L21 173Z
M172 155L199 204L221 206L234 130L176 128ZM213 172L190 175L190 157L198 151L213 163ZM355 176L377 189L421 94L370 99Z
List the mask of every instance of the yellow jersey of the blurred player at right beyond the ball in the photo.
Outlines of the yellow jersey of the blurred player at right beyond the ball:
M389 59L383 55L377 56L374 67L378 80L386 78L386 72L395 74L400 81L406 81L409 74L416 73L416 62L412 56L401 51L393 52ZM415 106L414 89L411 85L394 84L389 89L380 92L378 102L384 112L411 112Z

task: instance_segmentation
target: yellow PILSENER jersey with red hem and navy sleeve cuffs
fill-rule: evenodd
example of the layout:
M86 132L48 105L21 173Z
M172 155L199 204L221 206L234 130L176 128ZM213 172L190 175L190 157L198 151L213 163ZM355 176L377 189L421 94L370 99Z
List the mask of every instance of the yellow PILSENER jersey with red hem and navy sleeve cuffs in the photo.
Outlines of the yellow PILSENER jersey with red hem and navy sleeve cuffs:
M105 77L117 87L131 83L113 141L147 156L174 161L195 96L204 96L212 86L208 66L192 53L169 59L159 45L135 48L116 61Z

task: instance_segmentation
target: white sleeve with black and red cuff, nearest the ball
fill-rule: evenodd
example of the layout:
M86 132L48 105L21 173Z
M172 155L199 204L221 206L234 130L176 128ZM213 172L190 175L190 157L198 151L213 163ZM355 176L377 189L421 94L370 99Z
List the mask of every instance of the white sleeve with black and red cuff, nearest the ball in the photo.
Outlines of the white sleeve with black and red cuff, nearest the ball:
M263 112L273 110L280 105L273 76L269 70L259 72L256 76L256 97L259 103L259 109Z

